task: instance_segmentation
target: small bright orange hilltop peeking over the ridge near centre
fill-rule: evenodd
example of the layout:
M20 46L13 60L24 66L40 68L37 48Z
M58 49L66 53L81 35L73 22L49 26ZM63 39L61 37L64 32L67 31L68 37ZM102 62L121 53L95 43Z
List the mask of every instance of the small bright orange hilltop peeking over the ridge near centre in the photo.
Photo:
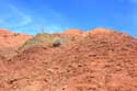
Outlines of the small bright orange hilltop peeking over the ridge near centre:
M66 30L62 34L66 35L81 35L83 32L77 29Z

